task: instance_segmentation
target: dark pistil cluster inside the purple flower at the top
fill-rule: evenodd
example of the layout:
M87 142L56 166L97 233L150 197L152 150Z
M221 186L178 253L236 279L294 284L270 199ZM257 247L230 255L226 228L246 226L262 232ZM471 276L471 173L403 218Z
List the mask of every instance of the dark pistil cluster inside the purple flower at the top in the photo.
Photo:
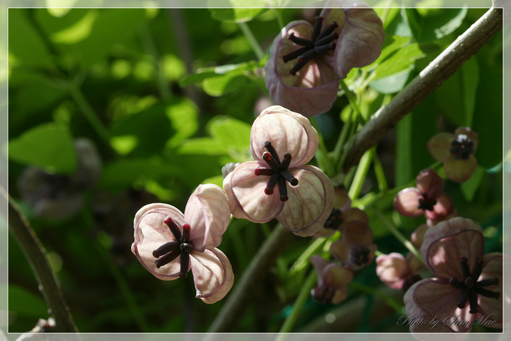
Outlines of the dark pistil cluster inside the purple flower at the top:
M298 50L282 57L285 63L293 59L298 61L289 71L291 75L296 75L296 73L304 67L309 60L319 57L331 50L335 50L335 41L333 40L339 38L339 35L335 33L334 30L338 27L338 25L335 21L332 21L332 23L321 32L322 23L323 18L320 16L317 17L310 40L297 37L294 33L291 33L288 37L288 39L295 44L303 46L303 48L299 48Z

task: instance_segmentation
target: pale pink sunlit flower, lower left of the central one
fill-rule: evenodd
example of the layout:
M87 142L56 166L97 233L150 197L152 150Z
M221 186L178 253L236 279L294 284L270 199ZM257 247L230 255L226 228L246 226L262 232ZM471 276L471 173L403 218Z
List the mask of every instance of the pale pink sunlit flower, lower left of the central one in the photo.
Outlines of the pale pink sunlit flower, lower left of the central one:
M229 205L222 189L199 185L184 214L165 203L141 208L134 219L131 251L161 280L186 278L192 269L196 297L215 303L234 281L229 260L216 248L229 222Z

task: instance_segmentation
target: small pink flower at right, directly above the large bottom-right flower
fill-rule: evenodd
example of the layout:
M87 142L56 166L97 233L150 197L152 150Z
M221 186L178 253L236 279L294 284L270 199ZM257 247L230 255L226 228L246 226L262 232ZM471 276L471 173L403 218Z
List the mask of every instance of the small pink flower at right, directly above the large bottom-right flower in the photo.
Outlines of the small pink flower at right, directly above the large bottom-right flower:
M405 188L394 198L394 208L407 217L422 214L431 220L440 220L454 211L451 197L444 193L444 179L428 168L417 175L417 187Z

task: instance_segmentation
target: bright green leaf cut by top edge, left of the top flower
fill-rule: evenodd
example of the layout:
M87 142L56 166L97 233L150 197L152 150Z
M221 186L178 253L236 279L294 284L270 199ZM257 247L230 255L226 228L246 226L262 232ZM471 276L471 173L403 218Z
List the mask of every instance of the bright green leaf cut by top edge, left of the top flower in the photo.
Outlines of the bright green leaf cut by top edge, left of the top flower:
M245 22L265 11L263 0L208 0L211 17L219 21Z

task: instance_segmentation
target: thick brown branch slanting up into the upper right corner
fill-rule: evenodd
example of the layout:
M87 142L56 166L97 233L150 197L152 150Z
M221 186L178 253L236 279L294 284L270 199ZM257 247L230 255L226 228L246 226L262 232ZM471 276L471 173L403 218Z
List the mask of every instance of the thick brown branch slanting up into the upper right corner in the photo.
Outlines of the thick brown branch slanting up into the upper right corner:
M503 10L491 8L467 31L408 84L401 93L380 109L357 133L343 165L344 172L360 161L366 150L375 145L385 132L421 103L473 54L502 30Z

